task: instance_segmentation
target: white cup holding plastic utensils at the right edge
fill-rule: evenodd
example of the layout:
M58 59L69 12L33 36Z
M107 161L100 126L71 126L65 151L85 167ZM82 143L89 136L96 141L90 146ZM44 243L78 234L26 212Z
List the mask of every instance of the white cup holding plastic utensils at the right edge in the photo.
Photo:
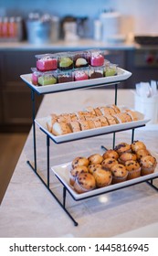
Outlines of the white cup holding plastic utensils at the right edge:
M150 119L149 123L158 123L158 94L149 98L135 94L134 108L144 114L144 119Z

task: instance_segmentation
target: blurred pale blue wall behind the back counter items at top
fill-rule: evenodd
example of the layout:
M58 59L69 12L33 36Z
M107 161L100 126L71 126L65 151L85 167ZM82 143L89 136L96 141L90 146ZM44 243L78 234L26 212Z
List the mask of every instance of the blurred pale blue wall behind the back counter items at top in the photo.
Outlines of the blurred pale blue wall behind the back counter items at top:
M157 0L1 0L0 15L22 15L39 10L56 16L89 16L90 36L93 20L103 9L121 13L121 31L125 34L158 34Z

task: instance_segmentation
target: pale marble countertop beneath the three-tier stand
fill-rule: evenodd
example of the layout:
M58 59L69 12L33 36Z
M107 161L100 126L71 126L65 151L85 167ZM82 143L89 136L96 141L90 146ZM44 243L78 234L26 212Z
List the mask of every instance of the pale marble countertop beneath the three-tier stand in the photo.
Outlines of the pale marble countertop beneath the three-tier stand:
M39 97L39 96L37 96ZM73 112L84 106L113 103L114 90L80 90L47 94L42 101L37 118L51 112ZM31 104L31 101L30 101ZM133 107L133 93L118 91L118 104ZM151 132L152 131L152 132ZM147 124L135 130L135 139L145 142L158 154L158 125ZM47 170L47 136L37 132L37 169L42 176ZM33 161L33 130L19 157L16 169L0 206L0 237L157 237L158 193L146 183L118 191L74 201L68 195L66 207L79 222L75 227L58 202L47 191L26 161ZM131 143L132 132L116 133L116 143ZM92 137L66 144L50 142L50 166L71 161L78 155L101 153L100 145L112 146L112 134ZM7 170L6 170L7 171ZM62 186L50 172L53 191L62 200ZM154 181L158 186L158 181ZM139 230L139 231L138 231ZM149 232L148 232L149 230ZM145 232L146 231L146 232Z

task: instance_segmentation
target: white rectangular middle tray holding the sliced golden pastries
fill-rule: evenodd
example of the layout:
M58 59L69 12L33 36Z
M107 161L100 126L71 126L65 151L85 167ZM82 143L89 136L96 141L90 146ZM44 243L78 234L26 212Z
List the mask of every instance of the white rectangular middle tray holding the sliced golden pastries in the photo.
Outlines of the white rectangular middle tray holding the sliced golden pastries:
M77 133L68 133L64 135L54 135L53 133L49 133L47 130L47 120L49 117L44 117L44 118L38 118L35 119L35 123L39 126L39 128L44 132L49 135L49 137L57 144L59 143L64 143L68 141L73 141L73 140L79 140L81 138L88 138L92 136L98 136L101 134L105 133L113 133L113 132L119 132L121 130L128 130L135 128L136 126L142 126L145 123L148 123L150 119L143 119L143 114L141 112L138 113L138 121L132 121L128 123L117 123L113 125L108 125L100 128L94 128L90 130L85 130L85 131L80 131Z

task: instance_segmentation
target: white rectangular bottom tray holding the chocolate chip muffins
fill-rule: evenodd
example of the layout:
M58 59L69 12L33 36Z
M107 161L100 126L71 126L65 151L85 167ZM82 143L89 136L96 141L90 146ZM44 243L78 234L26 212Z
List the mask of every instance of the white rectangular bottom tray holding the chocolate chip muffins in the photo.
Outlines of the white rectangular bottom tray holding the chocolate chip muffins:
M154 154L153 152L152 152L152 155L158 161L158 155ZM71 162L68 162L68 163L62 164L62 165L55 165L55 166L51 167L55 176L58 177L58 180L63 184L63 186L65 186L68 189L69 194L75 200L80 200L80 199L85 199L87 197L97 196L97 195L100 195L100 194L103 194L103 193L106 193L106 192L110 192L110 191L115 190L115 189L132 186L134 184L141 183L145 180L149 180L149 179L158 177L158 165L157 165L153 174L150 174L150 175L147 175L147 176L136 177L136 178L133 178L131 180L123 181L123 182L118 183L118 184L113 184L113 185L110 185L110 186L107 186L107 187L96 188L94 190L91 190L91 191L88 191L88 192L85 192L85 193L82 193L82 194L78 194L73 189L73 187L71 187L69 185L69 171L70 171L70 168L71 168Z

